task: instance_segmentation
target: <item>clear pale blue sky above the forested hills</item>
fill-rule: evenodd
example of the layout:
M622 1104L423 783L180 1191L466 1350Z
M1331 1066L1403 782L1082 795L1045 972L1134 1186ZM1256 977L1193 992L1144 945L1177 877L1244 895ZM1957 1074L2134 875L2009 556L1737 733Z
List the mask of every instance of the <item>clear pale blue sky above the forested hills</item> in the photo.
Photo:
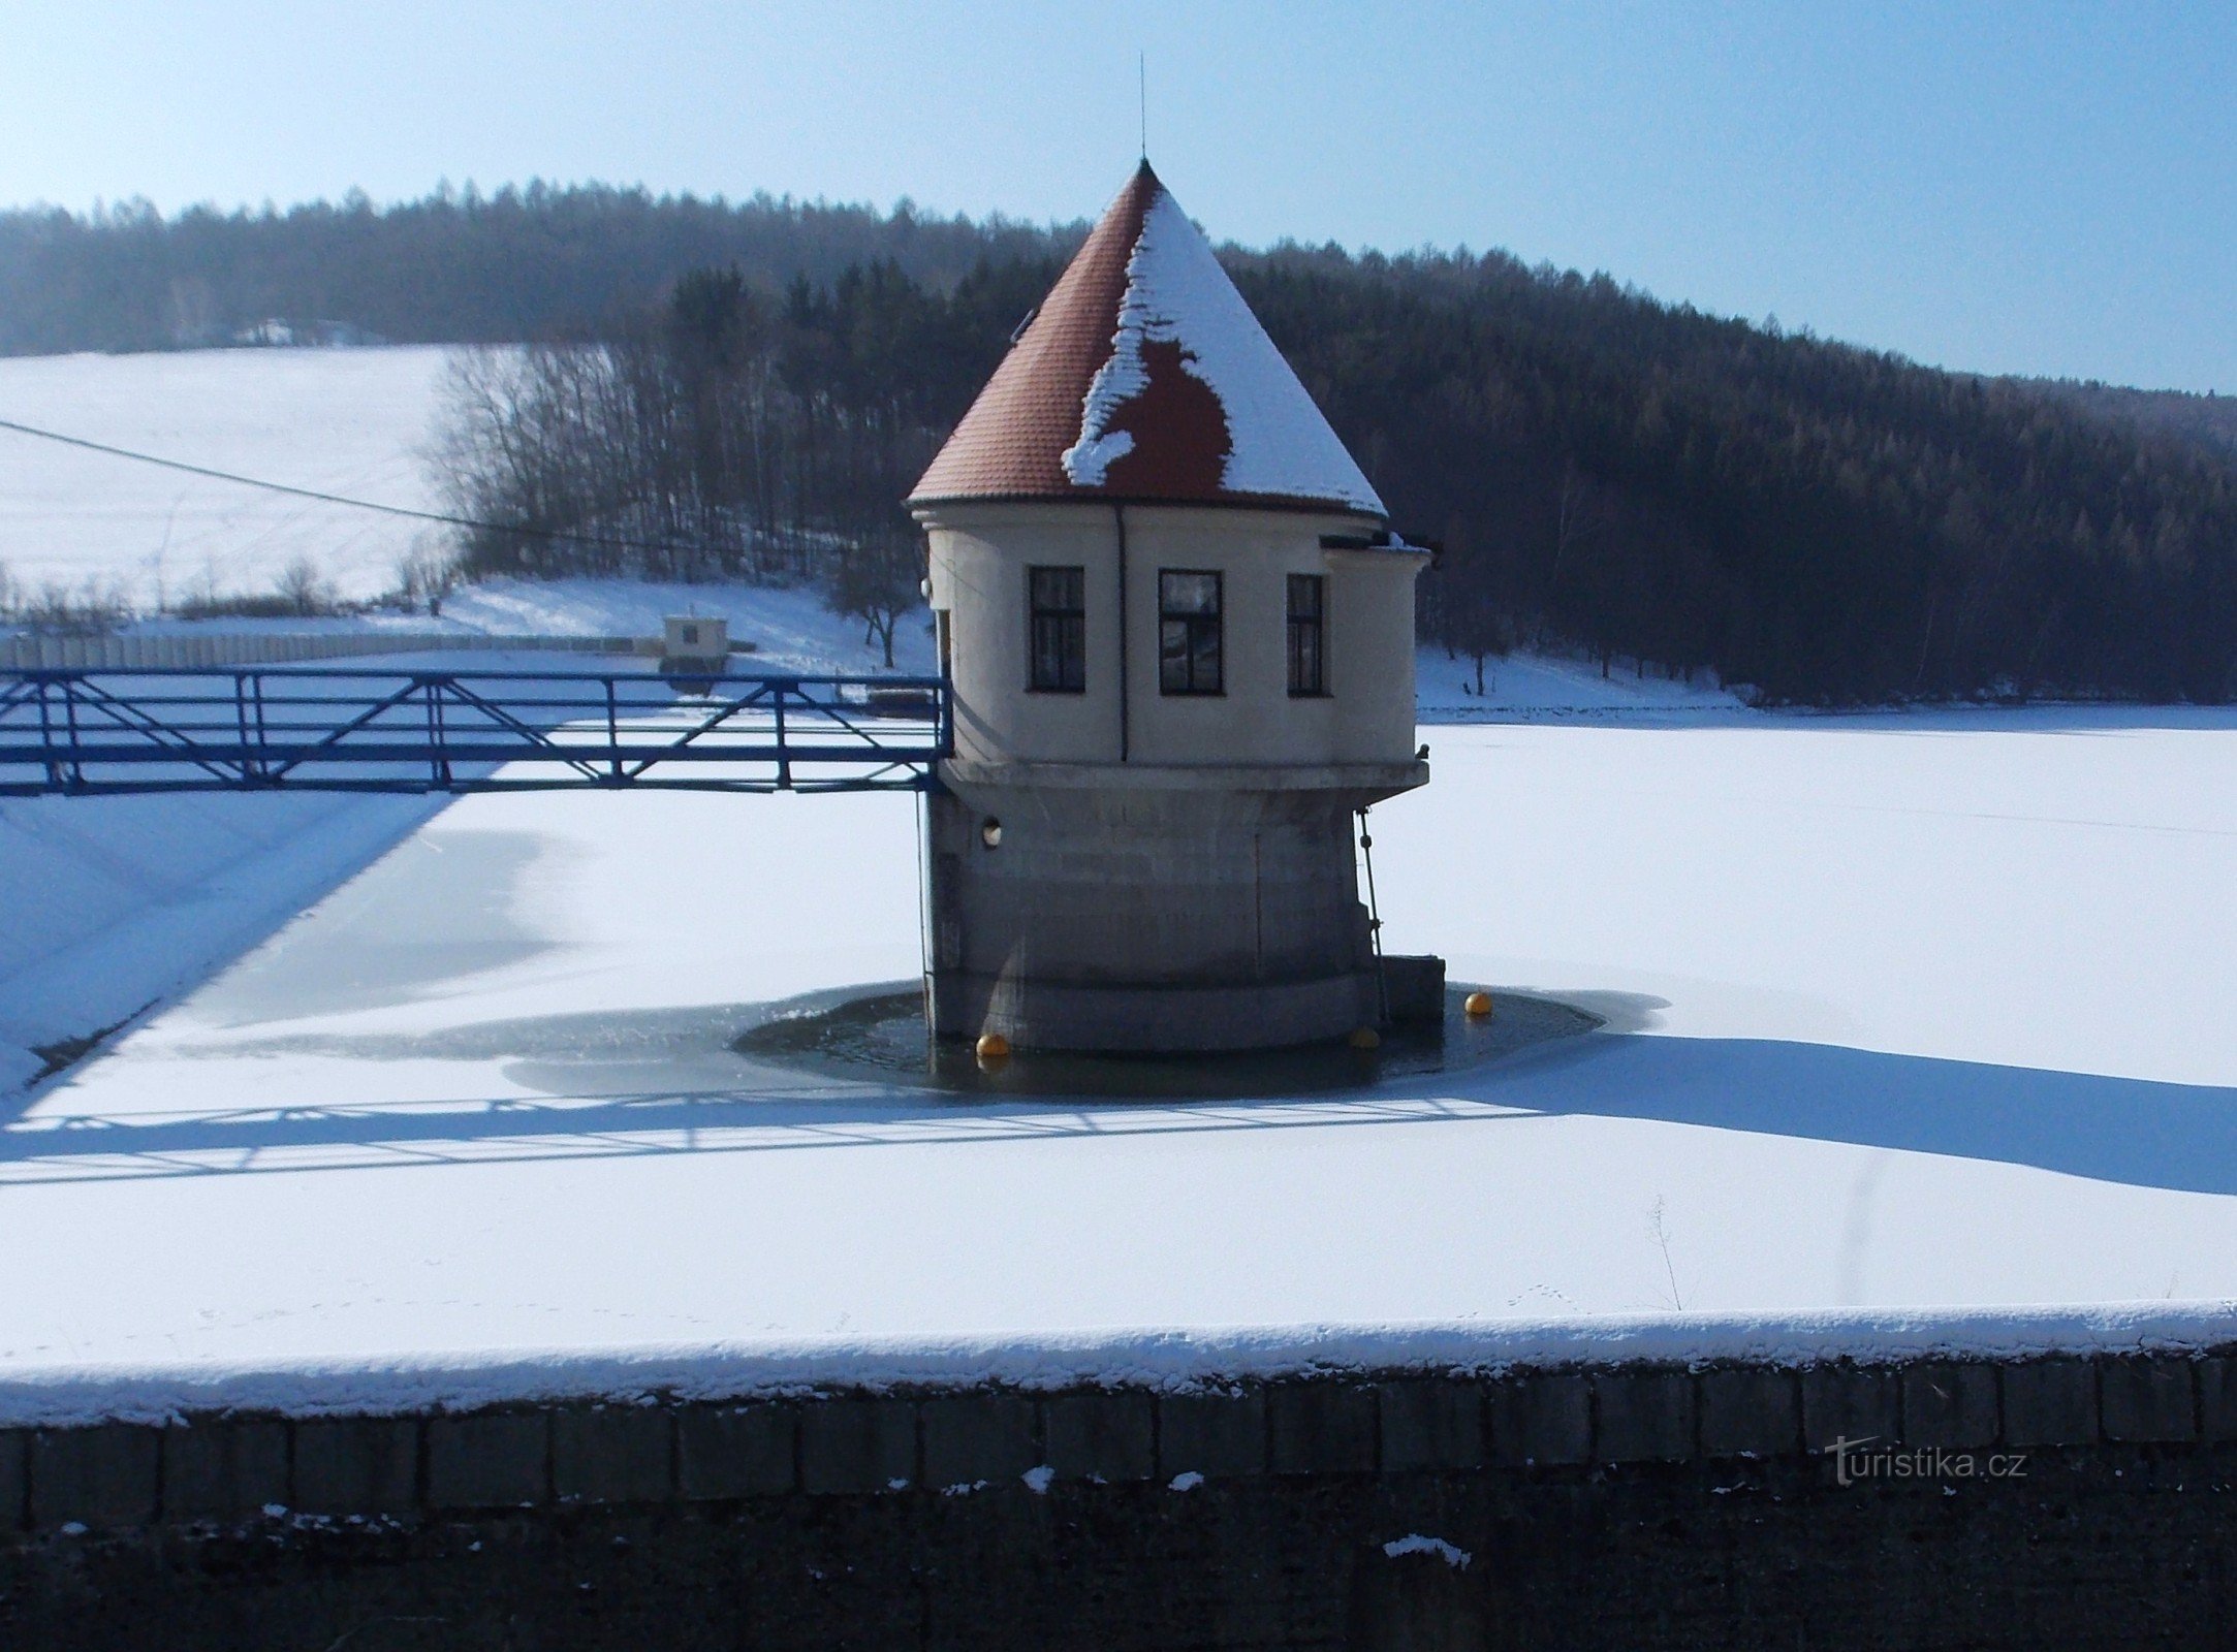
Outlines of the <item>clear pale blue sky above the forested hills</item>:
M25 4L0 201L436 179L1503 246L1980 371L2237 391L2237 7Z

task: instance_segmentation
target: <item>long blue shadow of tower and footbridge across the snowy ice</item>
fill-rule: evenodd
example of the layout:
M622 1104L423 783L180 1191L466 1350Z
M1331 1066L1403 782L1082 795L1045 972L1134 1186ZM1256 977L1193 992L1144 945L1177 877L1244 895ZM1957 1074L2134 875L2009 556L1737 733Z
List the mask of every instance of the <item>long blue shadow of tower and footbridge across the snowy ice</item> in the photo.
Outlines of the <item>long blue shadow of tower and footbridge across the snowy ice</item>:
M1584 1001L1586 995L1566 995ZM2237 1089L1837 1044L1642 1037L1653 999L1588 995L1611 1031L1365 1091L1219 1102L975 1102L765 1069L747 1082L604 1093L29 1115L0 1127L0 1185L517 1160L973 1147L1239 1129L1447 1129L1626 1118L2237 1194ZM492 1048L476 1028L450 1035ZM340 1053L340 1051L336 1051ZM517 1075L517 1069L508 1069ZM541 1077L541 1075L539 1075ZM588 1075L584 1075L588 1077ZM620 1077L613 1073L613 1077ZM631 1077L651 1077L638 1069Z

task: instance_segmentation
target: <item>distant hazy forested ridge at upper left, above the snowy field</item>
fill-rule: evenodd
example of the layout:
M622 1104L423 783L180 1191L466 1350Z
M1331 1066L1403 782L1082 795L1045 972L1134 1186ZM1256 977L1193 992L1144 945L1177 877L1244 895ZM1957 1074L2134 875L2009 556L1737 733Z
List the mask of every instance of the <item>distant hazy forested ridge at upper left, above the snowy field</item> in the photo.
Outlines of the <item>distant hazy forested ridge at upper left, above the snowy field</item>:
M982 259L1069 250L1085 232L906 203L879 212L595 183L170 219L145 203L98 217L13 210L0 212L0 355L226 344L266 320L342 322L394 344L559 338L613 324L693 268L736 266L778 291L893 262L946 288Z

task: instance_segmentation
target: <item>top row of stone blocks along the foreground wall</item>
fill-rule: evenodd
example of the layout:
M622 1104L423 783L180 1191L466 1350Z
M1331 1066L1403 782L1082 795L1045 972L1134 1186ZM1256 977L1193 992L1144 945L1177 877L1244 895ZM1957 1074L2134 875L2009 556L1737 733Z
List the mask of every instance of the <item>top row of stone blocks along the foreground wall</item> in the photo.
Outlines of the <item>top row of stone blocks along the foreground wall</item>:
M0 1531L436 1516L573 1502L940 1496L1022 1480L1376 1475L1879 1446L2237 1440L2237 1359L1324 1375L1228 1393L823 1395L407 1417L186 1417L0 1431Z

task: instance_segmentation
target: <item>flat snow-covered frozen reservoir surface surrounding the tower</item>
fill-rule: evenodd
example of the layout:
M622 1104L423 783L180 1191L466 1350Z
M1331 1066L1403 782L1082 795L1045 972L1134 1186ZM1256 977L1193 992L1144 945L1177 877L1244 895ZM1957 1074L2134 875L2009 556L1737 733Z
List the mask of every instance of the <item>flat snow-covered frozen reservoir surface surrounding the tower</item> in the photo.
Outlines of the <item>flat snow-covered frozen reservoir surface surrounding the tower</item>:
M465 798L0 1129L0 1415L2237 1326L2228 715L1425 738L1391 941L1611 1028L1311 1100L740 1075L913 803Z

